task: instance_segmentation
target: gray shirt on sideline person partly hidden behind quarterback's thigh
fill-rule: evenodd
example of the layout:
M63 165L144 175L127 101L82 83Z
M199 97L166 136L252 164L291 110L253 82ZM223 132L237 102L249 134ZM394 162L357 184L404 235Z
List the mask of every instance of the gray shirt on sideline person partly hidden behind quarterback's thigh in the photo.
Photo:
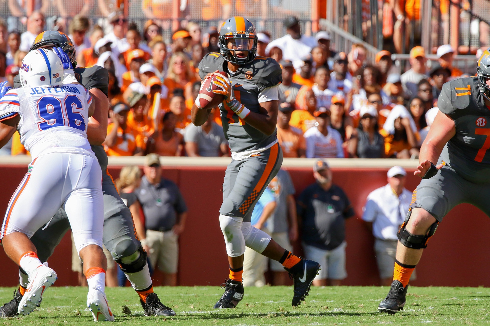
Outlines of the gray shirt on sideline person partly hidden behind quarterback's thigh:
M270 232L288 232L288 196L294 195L293 181L288 171L280 169L269 184L276 197L277 208L269 218Z

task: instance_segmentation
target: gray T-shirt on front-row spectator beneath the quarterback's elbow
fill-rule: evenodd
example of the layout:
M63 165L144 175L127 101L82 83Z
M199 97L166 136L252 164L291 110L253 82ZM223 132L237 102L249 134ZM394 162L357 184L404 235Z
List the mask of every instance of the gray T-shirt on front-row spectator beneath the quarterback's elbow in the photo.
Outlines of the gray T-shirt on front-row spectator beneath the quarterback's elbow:
M196 127L193 123L189 123L185 128L184 140L197 143L200 156L220 156L220 145L227 143L223 127L216 122L211 123L208 134L202 130L202 126Z

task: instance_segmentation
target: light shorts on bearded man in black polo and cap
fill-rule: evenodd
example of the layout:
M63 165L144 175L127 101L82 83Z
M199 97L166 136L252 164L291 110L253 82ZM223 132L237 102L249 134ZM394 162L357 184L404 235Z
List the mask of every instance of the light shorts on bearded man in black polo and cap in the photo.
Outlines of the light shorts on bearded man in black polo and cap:
M303 250L306 259L319 262L321 270L315 278L319 279L345 279L347 271L345 270L345 247L344 241L333 250L322 250L314 246L303 243Z

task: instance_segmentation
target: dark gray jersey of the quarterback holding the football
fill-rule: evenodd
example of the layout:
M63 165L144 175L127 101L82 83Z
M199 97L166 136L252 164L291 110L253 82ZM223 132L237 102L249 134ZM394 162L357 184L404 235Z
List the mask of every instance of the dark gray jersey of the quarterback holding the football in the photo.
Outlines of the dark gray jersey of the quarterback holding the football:
M228 72L227 62L220 53L208 53L199 64L201 79L216 70ZM228 74L229 75L229 74ZM235 97L252 112L259 113L259 93L282 82L281 66L271 58L257 56L254 61L240 68L231 76ZM267 136L245 123L231 109L220 104L224 135L234 152L265 147L277 139L276 132Z

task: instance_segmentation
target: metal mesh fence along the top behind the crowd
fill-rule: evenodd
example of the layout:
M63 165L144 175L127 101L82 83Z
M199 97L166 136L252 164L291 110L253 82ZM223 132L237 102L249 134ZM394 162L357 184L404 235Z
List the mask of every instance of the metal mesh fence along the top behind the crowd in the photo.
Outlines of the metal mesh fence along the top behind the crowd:
M20 7L17 3L25 3ZM283 20L291 15L300 20L303 33L311 34L312 0L90 0L84 6L82 0L0 0L0 17L7 22L8 29L24 32L26 16L30 10L41 10L46 16L46 28L52 29L56 23L68 30L74 15L82 13L110 30L107 16L116 8L123 8L130 23L136 23L143 30L148 19L153 19L163 29L163 37L169 40L172 30L196 22L205 31L209 26L218 26L228 17L244 16L255 24L257 31L268 31L275 39L285 35ZM31 5L31 9L25 7ZM66 17L63 21L61 17Z

